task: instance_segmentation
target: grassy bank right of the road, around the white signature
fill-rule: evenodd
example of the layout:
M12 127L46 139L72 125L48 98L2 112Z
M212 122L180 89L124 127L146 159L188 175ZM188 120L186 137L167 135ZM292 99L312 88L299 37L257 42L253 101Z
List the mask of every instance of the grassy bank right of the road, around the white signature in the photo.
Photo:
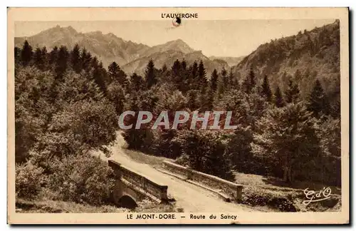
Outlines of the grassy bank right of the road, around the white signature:
M330 186L333 194L329 200L303 205L305 188L318 192L329 185L304 181L286 184L279 178L245 173L235 173L235 176L235 182L244 185L242 203L261 207L265 211L322 212L340 211L341 208L341 189L334 186Z

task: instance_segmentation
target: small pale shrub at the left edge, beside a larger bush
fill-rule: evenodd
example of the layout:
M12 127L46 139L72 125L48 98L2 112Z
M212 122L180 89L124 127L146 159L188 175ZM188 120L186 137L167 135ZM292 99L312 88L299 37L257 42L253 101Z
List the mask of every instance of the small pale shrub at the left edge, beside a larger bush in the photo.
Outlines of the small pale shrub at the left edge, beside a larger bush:
M16 165L16 197L35 198L41 192L43 169L30 161Z

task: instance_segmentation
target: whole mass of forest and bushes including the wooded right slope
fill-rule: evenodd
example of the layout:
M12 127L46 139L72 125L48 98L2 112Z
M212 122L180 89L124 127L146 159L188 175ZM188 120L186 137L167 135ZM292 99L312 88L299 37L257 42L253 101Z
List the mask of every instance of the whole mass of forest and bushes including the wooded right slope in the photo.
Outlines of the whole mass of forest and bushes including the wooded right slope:
M192 130L187 123L176 130L151 129L152 120L123 131L130 149L177 159L227 180L239 172L271 175L286 183L341 185L340 88L325 87L326 80L340 82L337 31L336 22L290 37L293 49L276 46L286 39L261 45L234 71L221 68L209 76L199 59L176 59L159 68L150 59L145 73L127 75L115 62L105 68L78 44L48 52L24 41L14 49L16 195L37 197L44 191L51 200L110 202L111 170L88 153L103 150L110 155L105 147L115 140L118 116L128 110L150 111L154 120L162 111L169 118L175 111L199 111L201 116L204 111L232 111L231 124L238 126ZM315 53L310 53L314 46L305 45L308 35L318 44ZM318 66L314 76L305 75L301 63L306 60L310 73ZM301 77L288 74L296 69ZM286 82L276 81L281 71L288 71ZM300 85L303 81L309 90ZM126 122L136 120L137 113Z

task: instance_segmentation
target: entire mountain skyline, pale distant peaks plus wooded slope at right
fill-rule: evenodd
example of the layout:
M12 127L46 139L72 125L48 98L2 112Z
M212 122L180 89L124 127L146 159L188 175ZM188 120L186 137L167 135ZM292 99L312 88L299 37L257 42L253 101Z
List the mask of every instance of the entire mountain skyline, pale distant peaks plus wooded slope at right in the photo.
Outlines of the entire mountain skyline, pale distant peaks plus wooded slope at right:
M207 57L202 51L195 51L182 39L147 46L125 41L112 33L80 33L71 26L56 26L34 36L15 38L15 46L21 47L25 39L33 48L46 46L48 50L62 45L71 49L78 43L103 61L105 67L116 61L129 75L134 72L143 74L150 59L155 62L156 68L161 68L164 64L169 68L177 59L184 59L188 65L201 60L206 67L208 78L214 68L221 71L224 67L231 69L234 76L242 82L249 69L253 68L258 84L261 84L264 76L268 76L273 89L280 86L283 91L288 81L294 79L302 96L308 96L315 79L318 78L329 95L340 94L338 20L333 24L315 27L311 31L299 31L294 36L263 43L244 57Z

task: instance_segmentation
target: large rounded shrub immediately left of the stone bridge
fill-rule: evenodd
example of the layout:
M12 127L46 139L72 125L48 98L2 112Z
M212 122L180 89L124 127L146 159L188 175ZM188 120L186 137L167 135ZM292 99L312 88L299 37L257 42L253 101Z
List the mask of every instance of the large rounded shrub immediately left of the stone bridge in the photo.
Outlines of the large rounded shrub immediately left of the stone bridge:
M56 158L51 163L48 188L58 192L57 200L103 205L110 200L114 185L111 168L98 157L77 155Z

